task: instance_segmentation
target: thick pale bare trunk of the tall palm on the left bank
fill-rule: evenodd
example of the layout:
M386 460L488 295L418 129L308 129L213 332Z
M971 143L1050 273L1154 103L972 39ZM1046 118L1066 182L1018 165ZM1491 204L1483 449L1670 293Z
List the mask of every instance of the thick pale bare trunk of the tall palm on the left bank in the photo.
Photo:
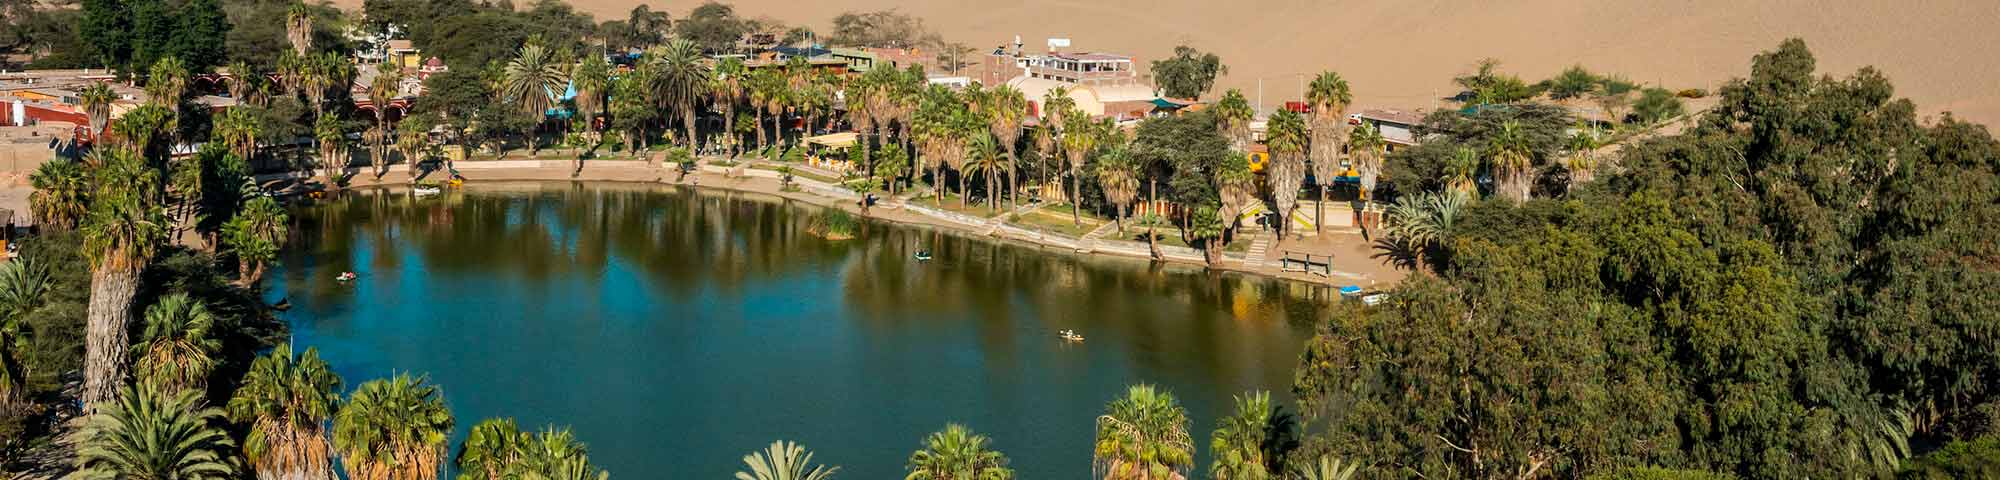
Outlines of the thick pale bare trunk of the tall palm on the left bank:
M138 268L98 268L90 274L90 320L84 342L84 406L96 410L118 398L126 376L132 296Z

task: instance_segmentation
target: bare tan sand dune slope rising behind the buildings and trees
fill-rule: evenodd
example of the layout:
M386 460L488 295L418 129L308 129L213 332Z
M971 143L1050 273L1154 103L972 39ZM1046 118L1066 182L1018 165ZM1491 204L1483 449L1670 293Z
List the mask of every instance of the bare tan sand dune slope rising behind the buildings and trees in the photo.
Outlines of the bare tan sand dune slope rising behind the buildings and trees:
M358 4L358 0L342 0ZM572 0L622 18L636 0ZM686 14L696 0L650 2ZM844 10L900 8L950 40L1030 50L1050 36L1072 50L1166 56L1174 44L1222 54L1222 88L1266 102L1298 98L1302 72L1334 68L1360 106L1428 108L1478 58L1530 82L1584 64L1670 88L1714 88L1750 70L1750 56L1806 38L1822 72L1882 68L1922 112L2000 124L2000 2L1996 0L734 0L744 16L816 30Z

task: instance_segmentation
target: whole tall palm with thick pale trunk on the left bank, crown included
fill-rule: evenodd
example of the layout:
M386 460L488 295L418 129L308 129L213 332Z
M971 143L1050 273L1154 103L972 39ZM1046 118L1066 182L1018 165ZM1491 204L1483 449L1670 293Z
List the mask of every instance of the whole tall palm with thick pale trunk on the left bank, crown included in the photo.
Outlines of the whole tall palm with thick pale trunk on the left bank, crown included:
M160 172L132 150L96 150L94 192L84 218L90 258L90 320L84 342L84 404L108 406L124 386L126 326L138 274L166 240L166 212L156 204Z

